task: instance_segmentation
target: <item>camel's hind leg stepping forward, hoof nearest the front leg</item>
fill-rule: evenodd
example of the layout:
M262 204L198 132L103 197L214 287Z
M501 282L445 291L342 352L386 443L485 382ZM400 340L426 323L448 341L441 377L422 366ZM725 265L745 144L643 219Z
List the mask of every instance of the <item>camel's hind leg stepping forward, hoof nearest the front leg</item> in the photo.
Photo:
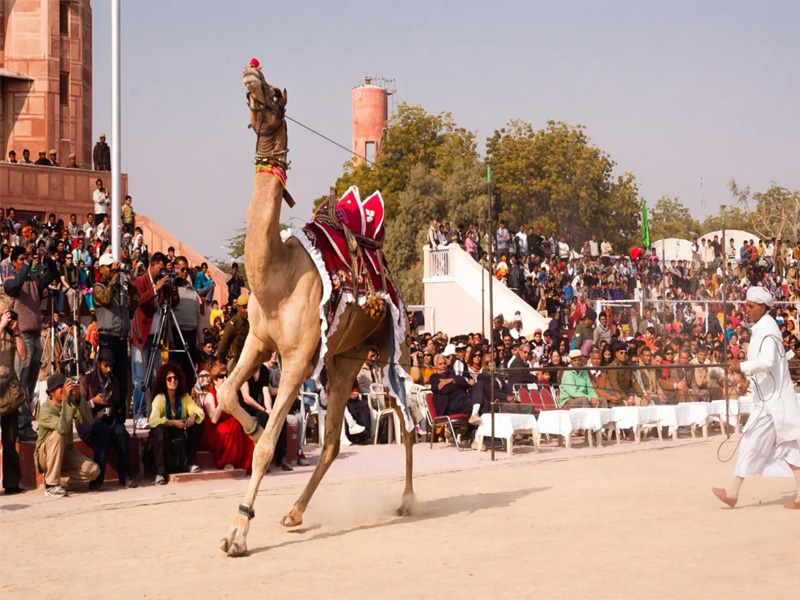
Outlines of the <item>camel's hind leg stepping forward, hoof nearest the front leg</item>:
M296 527L303 523L303 513L308 508L311 497L322 478L325 477L331 463L339 454L339 436L344 421L344 409L350 398L353 382L367 358L367 350L366 346L353 349L347 353L347 356L334 356L328 360L328 414L325 417L325 443L319 462L311 474L311 479L292 509L281 520L284 527Z

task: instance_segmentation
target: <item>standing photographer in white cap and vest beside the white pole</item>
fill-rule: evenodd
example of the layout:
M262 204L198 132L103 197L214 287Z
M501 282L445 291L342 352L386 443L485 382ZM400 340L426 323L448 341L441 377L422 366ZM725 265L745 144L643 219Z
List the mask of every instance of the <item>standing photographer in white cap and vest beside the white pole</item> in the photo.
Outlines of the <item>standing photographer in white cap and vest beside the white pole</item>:
M128 397L130 313L139 304L139 292L127 280L130 267L120 265L111 254L103 254L97 265L100 281L92 287L92 300L97 317L98 347L101 350L107 348L114 356L114 377L119 382L119 393L124 402ZM126 269L124 272L123 268ZM124 421L124 410L122 415Z

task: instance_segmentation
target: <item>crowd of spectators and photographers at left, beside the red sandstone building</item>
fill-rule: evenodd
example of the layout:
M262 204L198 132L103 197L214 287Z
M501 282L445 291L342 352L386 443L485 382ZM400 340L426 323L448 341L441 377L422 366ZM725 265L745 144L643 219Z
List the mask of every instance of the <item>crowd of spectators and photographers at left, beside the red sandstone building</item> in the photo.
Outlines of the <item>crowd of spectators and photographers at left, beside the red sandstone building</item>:
M238 266L227 281L229 302L220 306L207 263L190 265L172 247L166 254L150 251L130 196L118 226L116 261L100 180L95 210L83 224L75 214L66 223L55 214L23 223L13 207L0 208L6 493L21 491L17 440L36 440L36 468L50 496L66 495L64 480L103 487L110 448L119 484L135 485L127 468L130 425L150 430L144 459L158 484L171 472L197 471L199 449L209 450L219 468L251 467L253 442L216 401L249 329L249 296ZM273 358L240 393L262 426L279 381ZM93 460L73 449L73 425ZM302 449L297 464L308 464ZM292 469L285 426L275 465Z

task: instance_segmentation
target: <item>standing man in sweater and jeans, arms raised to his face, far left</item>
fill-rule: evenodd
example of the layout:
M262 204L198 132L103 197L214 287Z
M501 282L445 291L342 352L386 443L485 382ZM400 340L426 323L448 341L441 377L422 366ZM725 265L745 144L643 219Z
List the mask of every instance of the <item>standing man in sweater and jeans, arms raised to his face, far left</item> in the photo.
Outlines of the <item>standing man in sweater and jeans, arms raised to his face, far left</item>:
M44 270L33 275L33 257L25 248L15 247L11 251L11 264L16 276L3 282L5 293L11 297L11 310L19 315L20 336L25 342L26 358L19 359L17 375L20 385L27 395L28 402L22 404L19 437L31 440L36 437L31 424L33 414L29 403L33 398L39 367L42 361L42 298L50 282L58 277L58 267L49 255L43 257Z

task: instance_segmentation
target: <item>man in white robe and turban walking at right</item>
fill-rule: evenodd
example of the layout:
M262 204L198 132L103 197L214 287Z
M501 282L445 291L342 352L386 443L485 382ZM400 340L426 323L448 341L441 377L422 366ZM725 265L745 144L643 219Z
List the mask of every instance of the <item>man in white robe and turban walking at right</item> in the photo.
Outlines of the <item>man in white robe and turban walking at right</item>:
M733 508L746 477L794 477L798 492L786 508L800 509L800 401L789 375L789 364L778 324L767 311L773 297L763 287L747 290L746 310L752 326L747 360L728 367L750 380L753 409L744 428L734 479L727 489L712 488Z

